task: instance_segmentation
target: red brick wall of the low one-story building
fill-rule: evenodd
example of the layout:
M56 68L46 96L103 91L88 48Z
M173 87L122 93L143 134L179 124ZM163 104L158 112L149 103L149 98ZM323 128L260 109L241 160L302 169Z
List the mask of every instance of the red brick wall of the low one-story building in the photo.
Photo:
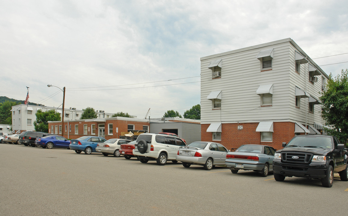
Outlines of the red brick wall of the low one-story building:
M61 125L62 123L49 123L48 128L50 130L51 126L55 127L55 125ZM87 128L89 127L88 134L84 134L84 125L87 125ZM95 134L92 133L92 124L95 124L96 130ZM150 130L150 124L149 122L137 122L137 121L127 121L127 120L120 120L120 119L112 119L112 120L106 120L106 122L85 122L84 120L81 120L79 122L69 122L69 125L71 125L71 132L69 132L69 126L67 126L67 132L65 132L65 125L68 125L67 122L64 122L63 126L63 136L68 139L68 133L69 133L69 139L77 139L81 136L98 136L99 130L98 130L98 124L104 124L105 125L105 139L112 139L112 138L119 138L121 135L121 132L128 133L128 124L134 125L134 130L143 130L143 125L147 125ZM109 135L109 127L108 124L113 124L113 135ZM78 134L75 134L75 125L78 125ZM118 133L116 133L116 127L118 127ZM54 133L51 132L51 133ZM58 131L59 133L59 131ZM61 135L61 134L58 134Z

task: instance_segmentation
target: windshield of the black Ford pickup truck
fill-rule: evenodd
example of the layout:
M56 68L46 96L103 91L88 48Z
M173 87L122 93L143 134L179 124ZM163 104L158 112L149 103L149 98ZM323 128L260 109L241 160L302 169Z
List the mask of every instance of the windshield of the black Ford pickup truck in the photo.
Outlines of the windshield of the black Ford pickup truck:
M328 136L295 136L286 147L332 148L331 143Z

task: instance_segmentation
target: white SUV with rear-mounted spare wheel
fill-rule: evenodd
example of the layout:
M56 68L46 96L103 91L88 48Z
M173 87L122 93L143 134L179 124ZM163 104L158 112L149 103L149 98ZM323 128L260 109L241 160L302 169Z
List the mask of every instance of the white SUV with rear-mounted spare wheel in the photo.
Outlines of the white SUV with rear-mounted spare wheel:
M176 155L181 146L186 146L181 138L165 134L143 133L135 141L133 154L141 163L156 160L158 165L165 165L167 160L177 163Z

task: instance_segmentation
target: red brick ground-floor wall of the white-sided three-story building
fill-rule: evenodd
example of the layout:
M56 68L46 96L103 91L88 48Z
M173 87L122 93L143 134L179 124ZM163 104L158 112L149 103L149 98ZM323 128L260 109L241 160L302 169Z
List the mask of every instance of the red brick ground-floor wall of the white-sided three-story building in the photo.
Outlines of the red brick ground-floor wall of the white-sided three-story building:
M212 132L206 132L210 124L201 125L201 141L212 142ZM243 126L238 130L238 125ZM271 146L275 149L282 149L282 142L288 142L295 136L295 123L274 122L272 142L261 142L261 133L256 132L259 123L233 123L221 125L221 143L227 149L238 148L243 144L261 144Z

